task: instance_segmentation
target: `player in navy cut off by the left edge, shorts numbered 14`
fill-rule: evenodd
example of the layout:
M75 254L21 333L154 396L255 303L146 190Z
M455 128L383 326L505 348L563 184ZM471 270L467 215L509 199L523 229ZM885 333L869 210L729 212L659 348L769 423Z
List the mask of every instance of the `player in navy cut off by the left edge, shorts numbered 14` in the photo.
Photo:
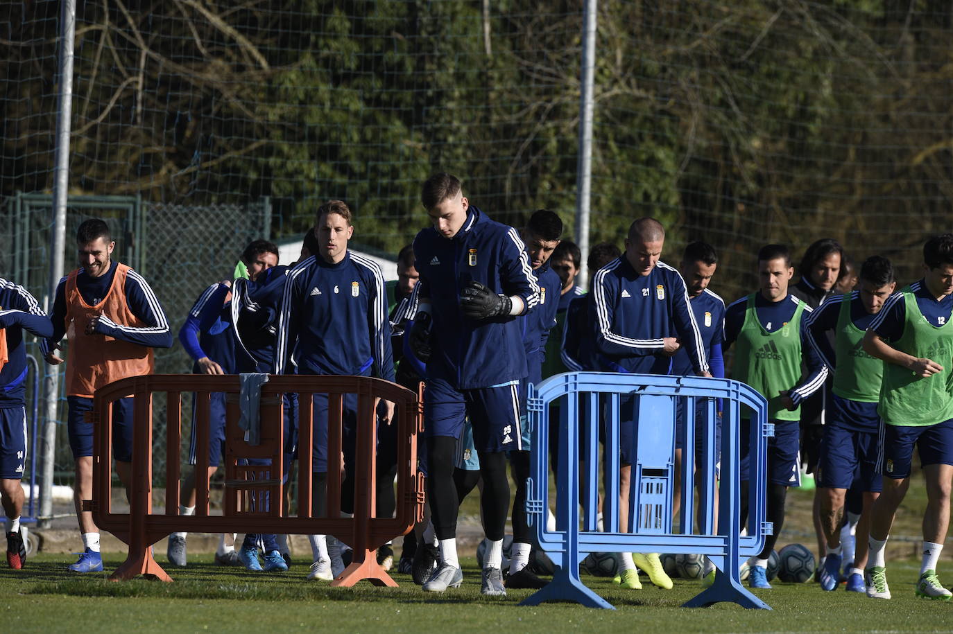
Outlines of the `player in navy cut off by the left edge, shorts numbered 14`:
M27 464L27 346L24 330L50 337L53 325L30 292L0 279L0 503L7 516L7 564L22 568L27 548L20 530Z

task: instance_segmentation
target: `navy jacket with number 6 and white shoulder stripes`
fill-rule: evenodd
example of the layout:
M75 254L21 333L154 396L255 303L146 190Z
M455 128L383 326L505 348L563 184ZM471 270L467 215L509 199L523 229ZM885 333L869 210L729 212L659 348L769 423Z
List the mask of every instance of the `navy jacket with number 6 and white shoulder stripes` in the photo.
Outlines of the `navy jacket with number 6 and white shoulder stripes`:
M380 267L347 251L310 257L285 279L274 372L368 375L394 381L391 323Z

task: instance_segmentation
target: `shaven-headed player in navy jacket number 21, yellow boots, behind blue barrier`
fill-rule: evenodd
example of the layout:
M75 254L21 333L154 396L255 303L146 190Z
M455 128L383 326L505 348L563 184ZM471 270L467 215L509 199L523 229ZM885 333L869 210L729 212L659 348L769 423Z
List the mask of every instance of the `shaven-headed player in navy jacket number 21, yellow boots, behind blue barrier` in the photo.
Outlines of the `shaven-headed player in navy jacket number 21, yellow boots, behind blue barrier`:
M679 271L659 260L665 229L654 218L639 218L629 228L622 256L596 273L590 319L594 324L599 369L609 372L668 374L672 357L685 347L692 370L711 376L695 316ZM636 426L636 399L623 398L619 421L621 478L619 526L628 530L629 473ZM615 529L615 526L610 527ZM658 555L620 558L623 587L640 588L638 564L654 584L672 587Z

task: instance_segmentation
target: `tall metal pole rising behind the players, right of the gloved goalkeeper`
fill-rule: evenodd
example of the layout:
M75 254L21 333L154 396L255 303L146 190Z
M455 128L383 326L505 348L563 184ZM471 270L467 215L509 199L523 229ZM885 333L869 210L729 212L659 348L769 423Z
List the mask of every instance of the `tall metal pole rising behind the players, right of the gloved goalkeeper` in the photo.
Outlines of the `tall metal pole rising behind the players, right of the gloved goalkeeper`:
M585 0L582 16L582 69L579 76L579 158L576 181L576 244L581 251L578 280L589 286L589 213L593 157L593 82L596 69L597 0Z

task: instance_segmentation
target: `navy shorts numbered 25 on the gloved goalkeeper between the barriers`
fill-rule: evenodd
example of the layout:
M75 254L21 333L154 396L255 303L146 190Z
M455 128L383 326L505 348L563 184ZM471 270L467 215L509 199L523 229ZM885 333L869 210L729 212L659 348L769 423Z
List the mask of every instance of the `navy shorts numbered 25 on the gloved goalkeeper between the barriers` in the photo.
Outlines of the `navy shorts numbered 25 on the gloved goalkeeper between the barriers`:
M486 452L528 449L519 427L518 386L456 389L442 379L427 381L423 404L424 436L463 435L463 422L470 418L474 446Z

